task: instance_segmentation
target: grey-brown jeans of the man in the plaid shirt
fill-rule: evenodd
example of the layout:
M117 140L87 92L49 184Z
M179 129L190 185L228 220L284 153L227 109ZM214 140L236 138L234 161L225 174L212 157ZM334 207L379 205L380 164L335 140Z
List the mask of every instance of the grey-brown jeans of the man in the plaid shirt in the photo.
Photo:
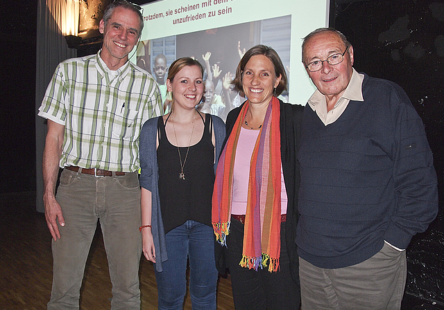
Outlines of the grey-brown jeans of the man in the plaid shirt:
M52 241L53 288L48 309L78 309L83 272L100 219L112 282L111 309L140 310L142 238L137 172L92 176L65 169L56 199L65 226L58 226L61 238ZM97 296L107 303L108 297Z

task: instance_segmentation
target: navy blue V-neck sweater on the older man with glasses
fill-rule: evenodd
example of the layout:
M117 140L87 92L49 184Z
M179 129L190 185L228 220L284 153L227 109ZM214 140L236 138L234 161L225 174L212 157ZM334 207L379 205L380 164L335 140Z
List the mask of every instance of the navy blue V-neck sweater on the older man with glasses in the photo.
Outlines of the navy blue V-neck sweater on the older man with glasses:
M362 88L364 102L330 125L304 111L296 244L321 268L364 262L384 240L407 248L438 212L432 152L407 94L368 75Z

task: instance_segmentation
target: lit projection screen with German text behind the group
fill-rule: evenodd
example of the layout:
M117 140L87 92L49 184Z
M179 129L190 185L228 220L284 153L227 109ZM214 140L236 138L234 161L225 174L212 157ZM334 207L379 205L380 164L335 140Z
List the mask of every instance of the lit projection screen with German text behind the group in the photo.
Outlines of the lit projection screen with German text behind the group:
M287 69L289 88L280 98L305 104L314 86L302 66L300 45L302 37L311 30L327 26L329 3L330 0L162 0L148 3L142 6L144 30L131 61L157 78L164 93L162 83L167 72L164 77L162 72L156 75L156 64L160 71L162 68L167 71L178 57L195 57L206 69L204 78L212 80L214 93L222 95L223 80L232 78L244 49L264 44L278 52ZM163 64L161 59L167 63ZM235 107L239 104L234 102L236 91L230 91L229 100Z

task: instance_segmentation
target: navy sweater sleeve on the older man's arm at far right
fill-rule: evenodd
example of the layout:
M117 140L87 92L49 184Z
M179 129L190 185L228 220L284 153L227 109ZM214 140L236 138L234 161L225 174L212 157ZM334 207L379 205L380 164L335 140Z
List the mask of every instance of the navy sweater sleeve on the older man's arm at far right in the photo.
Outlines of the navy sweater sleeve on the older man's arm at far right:
M422 120L404 90L396 84L392 86L396 206L384 239L397 248L407 248L411 237L425 231L436 217L438 188Z

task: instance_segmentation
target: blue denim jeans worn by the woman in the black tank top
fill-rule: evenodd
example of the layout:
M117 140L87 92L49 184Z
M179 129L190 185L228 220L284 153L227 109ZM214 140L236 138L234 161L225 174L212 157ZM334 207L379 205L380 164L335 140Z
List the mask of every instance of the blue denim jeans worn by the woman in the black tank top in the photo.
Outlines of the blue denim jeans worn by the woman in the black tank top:
M167 233L165 239L168 260L162 262L162 272L155 271L159 309L183 309L189 258L191 307L215 310L218 273L213 228L189 220Z

